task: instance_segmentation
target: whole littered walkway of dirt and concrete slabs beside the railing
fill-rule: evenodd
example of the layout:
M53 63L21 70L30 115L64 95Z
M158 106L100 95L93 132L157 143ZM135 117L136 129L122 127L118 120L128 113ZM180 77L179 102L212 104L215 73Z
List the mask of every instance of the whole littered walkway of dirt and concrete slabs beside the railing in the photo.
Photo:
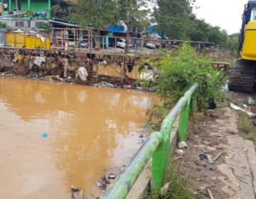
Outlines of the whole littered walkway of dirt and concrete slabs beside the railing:
M210 198L209 190L214 199L255 198L255 146L240 136L237 119L238 113L223 103L208 112L197 133L190 134L185 156L179 161L181 173L192 181L194 198ZM199 158L203 154L208 160ZM208 163L218 154L215 163Z

